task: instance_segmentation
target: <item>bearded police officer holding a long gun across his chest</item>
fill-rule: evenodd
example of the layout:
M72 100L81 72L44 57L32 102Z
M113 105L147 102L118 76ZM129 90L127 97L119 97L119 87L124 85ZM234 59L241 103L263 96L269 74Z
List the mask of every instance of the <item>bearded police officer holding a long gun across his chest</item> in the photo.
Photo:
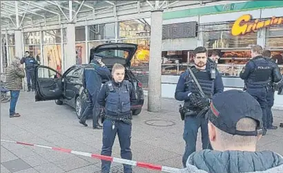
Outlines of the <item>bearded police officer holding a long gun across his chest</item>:
M205 97L200 96L199 88L188 70L179 77L175 90L175 99L184 101L185 117L184 117L184 134L183 139L186 142L186 148L183 156L183 165L186 167L188 156L195 152L197 141L197 131L199 127L202 130L202 148L211 149L208 140L208 121L199 115L204 108L207 108L213 96L219 92L223 92L224 85L221 74L215 68L211 68L208 63L206 48L197 47L193 51L194 63L191 68Z

